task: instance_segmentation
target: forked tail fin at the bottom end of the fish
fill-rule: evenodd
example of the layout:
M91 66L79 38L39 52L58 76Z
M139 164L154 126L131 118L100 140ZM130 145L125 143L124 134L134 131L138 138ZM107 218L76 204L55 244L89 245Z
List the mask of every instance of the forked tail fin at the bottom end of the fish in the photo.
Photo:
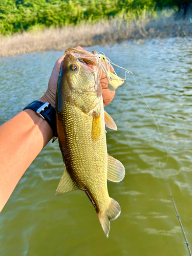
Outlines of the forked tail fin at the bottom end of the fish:
M98 212L97 216L101 223L101 227L105 233L105 236L109 238L110 232L110 221L113 221L119 217L121 213L121 207L117 201L111 198L111 204L109 208L107 208L103 212Z

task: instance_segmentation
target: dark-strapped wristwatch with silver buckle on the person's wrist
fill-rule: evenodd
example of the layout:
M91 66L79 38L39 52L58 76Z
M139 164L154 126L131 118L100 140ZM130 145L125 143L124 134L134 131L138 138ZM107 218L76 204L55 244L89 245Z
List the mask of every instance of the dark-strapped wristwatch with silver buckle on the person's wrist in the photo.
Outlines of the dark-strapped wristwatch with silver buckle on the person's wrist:
M34 100L29 105L25 107L23 110L34 110L38 116L40 116L42 119L46 120L49 125L51 126L51 129L53 130L53 140L54 142L57 139L57 127L56 127L56 113L53 106L48 102L42 102L39 100Z

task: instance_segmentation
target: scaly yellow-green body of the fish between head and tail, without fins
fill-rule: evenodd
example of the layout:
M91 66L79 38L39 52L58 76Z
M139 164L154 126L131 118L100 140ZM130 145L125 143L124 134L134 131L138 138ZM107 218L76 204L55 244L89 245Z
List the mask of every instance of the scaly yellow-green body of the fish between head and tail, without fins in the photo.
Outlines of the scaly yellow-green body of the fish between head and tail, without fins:
M66 168L81 190L93 202L97 212L105 210L110 203L107 189L108 154L106 150L103 103L101 103L101 133L93 141L93 114L87 114L69 101L58 114L57 125L60 149Z

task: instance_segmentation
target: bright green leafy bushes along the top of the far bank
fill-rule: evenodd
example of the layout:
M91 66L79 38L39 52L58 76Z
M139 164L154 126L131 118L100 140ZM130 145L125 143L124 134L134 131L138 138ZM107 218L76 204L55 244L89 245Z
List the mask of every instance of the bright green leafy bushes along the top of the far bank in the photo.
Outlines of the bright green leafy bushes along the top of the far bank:
M179 0L0 0L0 34L98 22L140 10L174 6ZM179 2L184 2L180 0ZM191 2L190 0L185 0ZM127 15L126 15L127 13ZM128 14L129 13L129 14Z

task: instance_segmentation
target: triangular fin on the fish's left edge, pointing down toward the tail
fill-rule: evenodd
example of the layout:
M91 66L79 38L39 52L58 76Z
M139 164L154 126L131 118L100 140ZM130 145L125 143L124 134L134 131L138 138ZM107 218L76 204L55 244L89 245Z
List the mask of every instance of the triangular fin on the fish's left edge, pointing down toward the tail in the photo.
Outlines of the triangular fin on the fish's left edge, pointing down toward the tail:
M64 164L64 166L65 166L65 164ZM69 173L68 173L68 171L65 167L65 170L64 170L64 172L61 176L61 179L59 181L59 184L57 186L55 195L60 196L60 195L63 195L63 194L67 194L70 191L73 191L73 190L76 190L76 189L79 189L79 188L74 183L74 181L70 177L70 175L69 175Z

